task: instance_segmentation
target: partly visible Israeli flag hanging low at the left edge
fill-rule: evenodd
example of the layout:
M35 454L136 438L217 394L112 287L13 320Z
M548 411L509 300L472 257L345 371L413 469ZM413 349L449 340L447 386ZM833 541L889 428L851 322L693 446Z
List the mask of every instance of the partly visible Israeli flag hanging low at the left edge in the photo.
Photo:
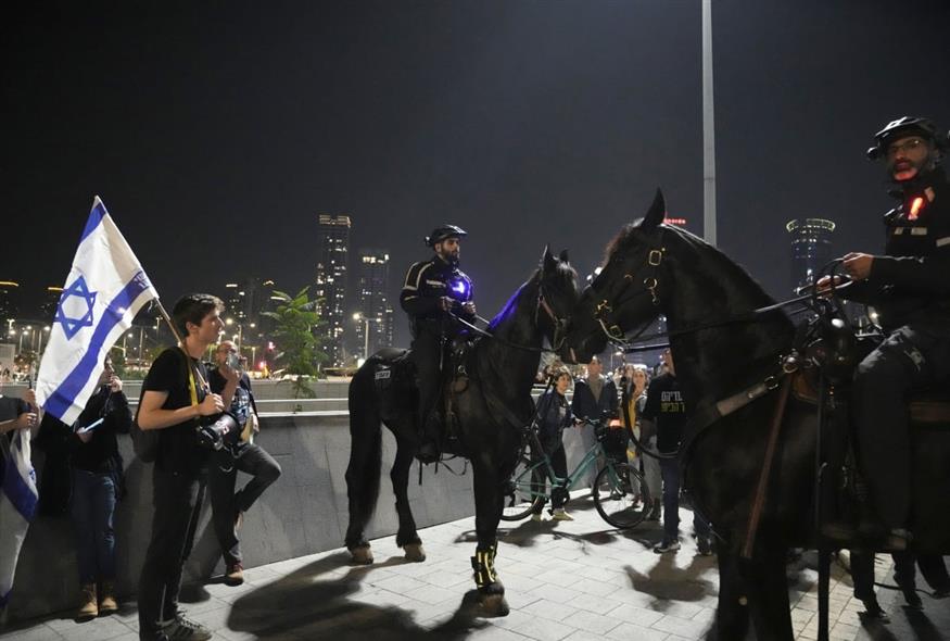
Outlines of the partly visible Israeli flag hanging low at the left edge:
M0 609L10 601L16 558L26 538L26 530L39 493L36 472L29 462L29 430L13 432L8 451L7 437L0 437Z

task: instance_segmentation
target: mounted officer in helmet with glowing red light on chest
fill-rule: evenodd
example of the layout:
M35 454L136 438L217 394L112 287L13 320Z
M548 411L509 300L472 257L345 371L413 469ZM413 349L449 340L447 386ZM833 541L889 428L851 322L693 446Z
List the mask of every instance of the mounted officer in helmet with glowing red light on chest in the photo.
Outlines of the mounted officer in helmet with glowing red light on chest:
M950 185L940 167L948 138L922 117L892 121L874 138L867 156L884 161L900 203L884 217L884 255L845 256L854 282L843 296L873 305L887 334L854 377L858 453L876 517L859 531L900 546L911 506L907 400L950 379Z

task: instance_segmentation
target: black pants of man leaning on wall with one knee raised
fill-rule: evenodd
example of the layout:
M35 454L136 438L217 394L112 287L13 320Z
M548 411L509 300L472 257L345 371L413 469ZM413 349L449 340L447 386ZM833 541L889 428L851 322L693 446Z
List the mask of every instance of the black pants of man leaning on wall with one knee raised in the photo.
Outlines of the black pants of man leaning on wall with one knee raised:
M238 470L250 474L253 478L235 492ZM280 465L274 456L253 443L242 445L237 458L225 451L216 452L212 458L207 486L214 531L226 565L241 563L241 543L238 532L235 531L235 517L239 512L248 512L279 476Z

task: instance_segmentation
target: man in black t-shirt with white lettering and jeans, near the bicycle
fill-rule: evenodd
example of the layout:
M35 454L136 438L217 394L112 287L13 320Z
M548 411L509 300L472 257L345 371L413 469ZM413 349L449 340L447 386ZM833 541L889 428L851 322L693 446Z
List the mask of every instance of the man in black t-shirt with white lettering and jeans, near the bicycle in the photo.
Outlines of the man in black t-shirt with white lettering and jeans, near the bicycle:
M680 390L680 381L676 379L673 354L669 348L663 352L662 359L666 373L650 382L647 400L641 413L643 431L656 433L657 451L662 456L660 458L660 473L663 479L663 540L654 548L654 552L658 554L675 552L680 549L680 483L682 474L677 453L683 438L683 428L689 417L686 403L683 401L683 393ZM709 524L696 512L693 516L693 527L699 553L704 556L711 554Z

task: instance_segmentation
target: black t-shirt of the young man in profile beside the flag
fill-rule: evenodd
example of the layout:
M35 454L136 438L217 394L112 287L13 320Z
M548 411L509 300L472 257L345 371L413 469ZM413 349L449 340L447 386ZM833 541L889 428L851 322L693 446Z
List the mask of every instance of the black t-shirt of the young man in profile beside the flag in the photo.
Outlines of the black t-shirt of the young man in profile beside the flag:
M142 382L142 393L147 391L167 392L168 398L162 405L163 410L178 410L191 405L191 391L188 369L185 363L185 352L178 348L168 348L155 359L145 380ZM193 372L200 372L204 380L207 373L204 365L188 357ZM202 402L207 391L202 387L201 379L194 376L194 387L198 393L198 402ZM208 450L198 444L194 428L197 419L189 419L178 425L173 425L160 430L159 453L155 457L155 466L165 472L183 472L199 474L208 458Z

